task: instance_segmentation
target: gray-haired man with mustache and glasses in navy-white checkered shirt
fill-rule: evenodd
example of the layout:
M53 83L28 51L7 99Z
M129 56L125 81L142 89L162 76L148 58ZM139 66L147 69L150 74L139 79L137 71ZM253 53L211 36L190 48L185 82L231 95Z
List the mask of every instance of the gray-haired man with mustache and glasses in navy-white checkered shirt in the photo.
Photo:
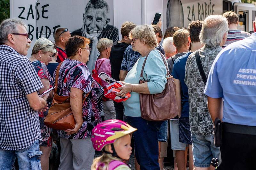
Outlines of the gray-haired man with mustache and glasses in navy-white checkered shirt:
M27 25L6 19L0 25L0 169L41 169L38 111L48 107L37 95L43 87L27 55Z

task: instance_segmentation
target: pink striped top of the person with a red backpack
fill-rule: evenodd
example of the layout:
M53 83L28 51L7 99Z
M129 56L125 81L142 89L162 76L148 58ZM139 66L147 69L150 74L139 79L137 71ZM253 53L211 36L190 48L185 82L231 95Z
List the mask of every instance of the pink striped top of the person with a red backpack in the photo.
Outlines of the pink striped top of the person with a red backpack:
M104 61L104 62L103 62ZM100 63L103 62L100 66ZM99 68L100 66L100 68ZM111 77L111 65L110 65L110 60L107 58L101 58L98 59L95 63L95 69L98 70L98 74L100 74L101 72L106 73L109 77ZM102 82L102 87L106 87L108 85L107 82L105 81L101 81Z

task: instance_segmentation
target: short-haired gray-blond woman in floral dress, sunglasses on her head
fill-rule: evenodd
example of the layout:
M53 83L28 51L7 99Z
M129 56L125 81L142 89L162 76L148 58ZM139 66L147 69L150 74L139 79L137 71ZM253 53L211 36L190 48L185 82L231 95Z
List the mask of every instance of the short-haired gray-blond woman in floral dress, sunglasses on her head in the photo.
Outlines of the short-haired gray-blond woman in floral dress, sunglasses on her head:
M29 60L34 66L42 84L44 85L44 87L38 91L39 95L53 85L52 77L48 72L46 65L48 65L48 63L52 61L52 57L57 52L55 48L56 46L52 43L52 41L46 38L39 38L38 40L36 40L36 43L32 49L32 55ZM48 94L43 96L43 98L47 100L47 103L49 105L48 107L50 107L50 102L52 98L51 94L52 93L50 93L49 100L47 100ZM43 152L43 155L41 155L42 170L49 169L49 157L52 150L52 128L48 128L44 125L44 119L47 114L48 110L46 112L39 113L41 136L43 139L43 143L40 144L40 151Z

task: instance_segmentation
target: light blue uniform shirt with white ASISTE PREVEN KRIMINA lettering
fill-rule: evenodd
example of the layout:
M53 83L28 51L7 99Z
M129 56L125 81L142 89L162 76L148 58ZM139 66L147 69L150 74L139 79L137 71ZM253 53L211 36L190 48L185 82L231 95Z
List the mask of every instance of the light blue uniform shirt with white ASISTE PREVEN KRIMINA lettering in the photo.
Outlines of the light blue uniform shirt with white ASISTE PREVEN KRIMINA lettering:
M223 98L223 122L256 126L256 33L220 51L204 93Z

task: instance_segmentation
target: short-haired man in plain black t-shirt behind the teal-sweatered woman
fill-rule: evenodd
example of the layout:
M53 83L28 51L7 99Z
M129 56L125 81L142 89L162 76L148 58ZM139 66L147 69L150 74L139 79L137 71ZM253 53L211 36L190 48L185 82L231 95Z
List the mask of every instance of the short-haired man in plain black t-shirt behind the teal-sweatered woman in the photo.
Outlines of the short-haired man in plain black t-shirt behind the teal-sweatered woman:
M125 49L132 43L130 40L129 33L136 25L132 22L124 22L121 26L122 40L115 41L112 45L110 52L110 64L111 64L111 77L115 80L120 81L119 73L121 68L121 63L124 58ZM117 103L114 101L114 106L116 110L116 119L123 120L124 117L124 106L123 103Z

